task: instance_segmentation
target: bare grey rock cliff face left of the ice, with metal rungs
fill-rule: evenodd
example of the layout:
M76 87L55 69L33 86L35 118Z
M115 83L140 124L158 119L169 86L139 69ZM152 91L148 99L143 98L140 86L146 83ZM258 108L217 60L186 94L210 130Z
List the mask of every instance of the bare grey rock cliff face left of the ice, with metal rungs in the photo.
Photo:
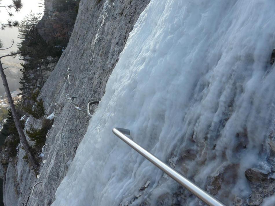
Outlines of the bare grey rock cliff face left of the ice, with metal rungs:
M4 203L14 205L50 205L55 199L55 191L63 179L61 137L65 170L74 158L78 144L86 133L89 117L72 108L63 94L76 96L74 100L82 108L91 100L100 100L105 92L106 82L119 59L119 54L133 29L140 13L149 0L82 0L79 5L73 34L67 49L63 52L56 68L41 90L40 98L45 103L47 114L54 111L50 104L58 103L63 108L54 119L45 148L49 153L43 157L39 179L23 159L24 150L19 148L18 161L9 163L4 176ZM51 9L51 1L45 1L46 10ZM67 69L70 68L68 84ZM94 108L92 108L93 111ZM41 122L32 117L27 120L25 130L30 125L39 127ZM63 128L61 136L61 128ZM65 172L66 172L65 171ZM42 181L31 190L35 183Z

